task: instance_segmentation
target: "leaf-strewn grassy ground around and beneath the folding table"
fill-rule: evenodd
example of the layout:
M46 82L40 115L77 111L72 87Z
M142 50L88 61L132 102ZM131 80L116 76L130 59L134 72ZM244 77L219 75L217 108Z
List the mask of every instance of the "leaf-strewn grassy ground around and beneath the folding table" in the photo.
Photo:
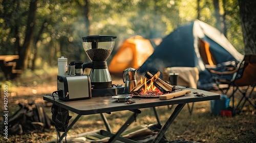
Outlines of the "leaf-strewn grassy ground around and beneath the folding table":
M4 91L3 85L8 85L8 109L9 115L13 114L18 109L19 102L41 102L42 96L46 93L51 93L56 90L56 70L48 71L47 74L28 74L21 77L17 81L3 82L1 90L1 117L0 117L0 142L46 142L56 139L56 131L53 128L50 132L31 131L23 135L8 135L8 139L3 135L3 104ZM113 78L114 84L123 84L119 77ZM218 92L220 91L212 91ZM241 97L241 94L236 94L236 97ZM256 90L253 91L252 100L255 103ZM237 101L237 98L236 98ZM49 104L48 104L49 105ZM191 104L189 104L191 105ZM174 105L176 106L176 105ZM242 112L239 115L232 117L214 116L211 114L210 101L197 102L194 105L193 114L189 114L188 107L185 106L181 113L177 116L174 123L170 126L165 134L168 140L189 140L198 142L256 142L256 114L255 109L247 102ZM45 106L45 111L51 116L51 107ZM141 109L142 113L138 115L137 121L131 127L137 125L148 125L157 123L152 109ZM160 115L161 123L165 123L173 108L167 106L157 107ZM70 112L74 120L76 114ZM106 114L111 128L116 132L121 125L126 121L126 118L131 115L130 111L113 112ZM104 123L100 115L82 116L77 124L69 131L68 135L73 136L79 133L93 131L97 129L105 129Z

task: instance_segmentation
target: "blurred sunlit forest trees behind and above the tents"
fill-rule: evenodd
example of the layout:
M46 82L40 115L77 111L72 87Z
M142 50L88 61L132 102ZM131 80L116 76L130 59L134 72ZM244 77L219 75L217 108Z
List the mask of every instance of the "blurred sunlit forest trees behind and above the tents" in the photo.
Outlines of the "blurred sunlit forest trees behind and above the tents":
M245 54L239 7L241 1L0 2L0 55L19 55L16 69L57 66L60 56L87 62L89 58L83 50L81 37L88 35L117 36L113 56L123 40L129 37L164 38L195 19L218 28L240 53ZM253 6L248 2L253 3L246 1L243 7L245 4Z

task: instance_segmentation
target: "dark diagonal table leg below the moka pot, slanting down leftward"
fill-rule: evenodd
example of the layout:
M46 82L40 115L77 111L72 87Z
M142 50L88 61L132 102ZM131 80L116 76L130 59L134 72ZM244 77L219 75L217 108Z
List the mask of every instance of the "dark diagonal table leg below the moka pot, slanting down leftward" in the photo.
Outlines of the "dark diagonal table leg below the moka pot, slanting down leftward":
M120 138L120 134L128 127L130 126L134 121L136 121L136 117L138 114L141 113L141 111L139 109L134 109L134 110L130 110L132 112L134 112L129 119L123 124L123 126L116 132L115 135L111 135L110 136L110 140L108 142L110 143L114 143L118 138ZM104 134L104 131L100 132L101 134ZM106 134L105 134L106 135Z

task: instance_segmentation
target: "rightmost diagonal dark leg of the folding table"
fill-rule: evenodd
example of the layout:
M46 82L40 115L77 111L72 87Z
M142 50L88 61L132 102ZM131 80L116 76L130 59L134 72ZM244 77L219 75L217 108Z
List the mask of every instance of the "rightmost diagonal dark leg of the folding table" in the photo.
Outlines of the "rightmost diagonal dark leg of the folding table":
M168 120L166 121L166 123L164 124L164 126L162 127L162 129L159 131L158 135L152 142L158 143L161 140L161 138L163 137L163 135L165 134L167 129L170 127L170 124L173 123L173 121L175 120L177 115L180 113L182 108L185 106L185 104L186 103L177 105L177 107L174 109L174 112L172 113L172 115L170 115L170 117L168 118Z

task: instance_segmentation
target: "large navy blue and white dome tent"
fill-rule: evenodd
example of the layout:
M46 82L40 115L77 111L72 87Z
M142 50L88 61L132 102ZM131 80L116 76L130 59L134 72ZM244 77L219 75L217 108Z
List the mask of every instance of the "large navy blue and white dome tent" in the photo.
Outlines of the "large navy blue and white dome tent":
M163 38L154 53L139 67L138 73L148 70L154 74L174 66L197 67L198 88L205 89L212 83L206 64L242 61L243 57L219 30L195 20Z

